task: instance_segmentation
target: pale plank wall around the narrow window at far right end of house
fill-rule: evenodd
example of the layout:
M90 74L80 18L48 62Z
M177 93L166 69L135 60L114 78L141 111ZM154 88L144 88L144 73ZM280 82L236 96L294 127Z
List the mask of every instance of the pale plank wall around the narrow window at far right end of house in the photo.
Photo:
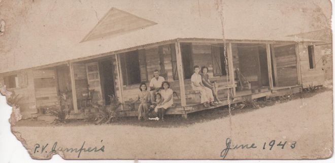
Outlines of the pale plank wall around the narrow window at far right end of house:
M309 85L322 85L324 83L324 72L322 71L322 60L321 60L321 49L320 46L315 46L315 63L316 68L310 69L308 59L308 43L299 43L298 51L300 57L300 69L301 77L303 80L303 88L309 87Z

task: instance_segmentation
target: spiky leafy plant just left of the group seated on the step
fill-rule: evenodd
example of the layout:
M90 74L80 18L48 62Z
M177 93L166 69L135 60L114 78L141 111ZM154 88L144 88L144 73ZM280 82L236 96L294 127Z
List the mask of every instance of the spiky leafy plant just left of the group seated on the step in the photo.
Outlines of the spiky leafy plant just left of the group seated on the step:
M99 118L96 120L95 124L110 123L111 121L117 120L116 109L121 105L118 97L115 95L108 95L111 99L111 105L104 107L100 104L93 104L92 106L98 108L101 111Z

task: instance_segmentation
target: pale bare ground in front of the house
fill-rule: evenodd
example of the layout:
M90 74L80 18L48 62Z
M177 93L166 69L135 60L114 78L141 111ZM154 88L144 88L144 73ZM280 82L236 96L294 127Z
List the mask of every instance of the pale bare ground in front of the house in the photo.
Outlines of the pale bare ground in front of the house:
M231 117L227 108L220 108L191 114L187 121L179 116L170 116L165 122L126 118L105 125L76 121L46 126L31 121L35 126L26 126L22 121L12 129L21 134L31 151L36 143L51 146L55 141L61 147L80 148L84 141L87 146L105 145L104 153L82 153L82 159L222 159L227 138L232 139L233 146L256 146L229 150L227 159L316 159L332 155L332 90L283 96L257 105L263 108L234 109ZM272 140L275 143L270 150ZM280 142L286 142L283 149L277 146ZM45 153L34 155L46 157ZM78 153L64 155L77 158Z

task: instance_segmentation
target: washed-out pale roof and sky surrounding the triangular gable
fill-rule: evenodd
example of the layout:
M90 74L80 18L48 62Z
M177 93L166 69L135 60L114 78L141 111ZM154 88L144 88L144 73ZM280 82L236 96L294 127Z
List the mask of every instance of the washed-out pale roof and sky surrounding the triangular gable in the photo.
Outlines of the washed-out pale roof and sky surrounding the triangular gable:
M111 8L157 24L81 42ZM0 73L176 38L222 39L221 18L225 39L282 40L330 28L330 14L326 0L2 1Z

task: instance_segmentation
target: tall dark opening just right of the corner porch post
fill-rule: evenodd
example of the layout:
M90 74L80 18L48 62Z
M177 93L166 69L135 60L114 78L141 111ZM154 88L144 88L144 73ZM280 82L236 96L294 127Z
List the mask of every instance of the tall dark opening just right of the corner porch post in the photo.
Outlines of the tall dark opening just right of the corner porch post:
M181 44L180 49L183 62L184 78L191 79L193 74L192 46L191 44Z

